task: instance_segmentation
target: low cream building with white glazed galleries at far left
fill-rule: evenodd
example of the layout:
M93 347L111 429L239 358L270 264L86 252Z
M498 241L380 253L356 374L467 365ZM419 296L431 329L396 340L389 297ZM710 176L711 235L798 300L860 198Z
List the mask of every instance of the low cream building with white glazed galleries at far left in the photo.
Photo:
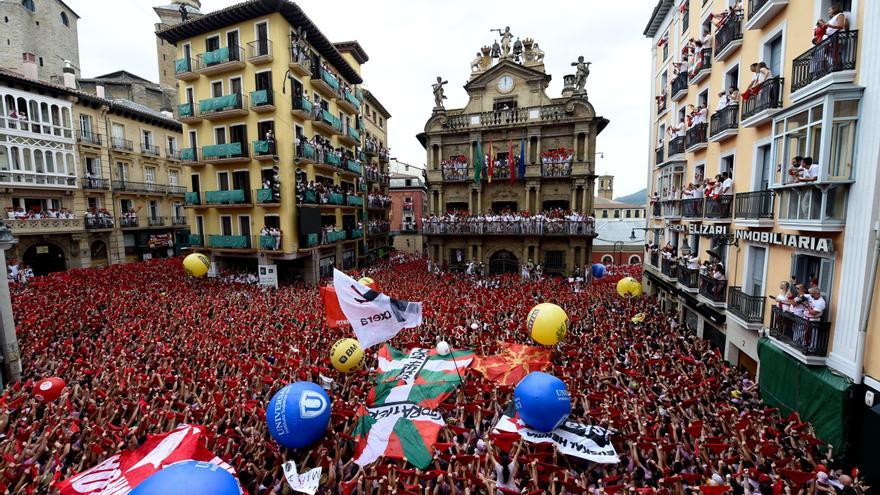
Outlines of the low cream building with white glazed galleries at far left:
M180 124L126 100L0 71L7 255L36 274L177 254Z

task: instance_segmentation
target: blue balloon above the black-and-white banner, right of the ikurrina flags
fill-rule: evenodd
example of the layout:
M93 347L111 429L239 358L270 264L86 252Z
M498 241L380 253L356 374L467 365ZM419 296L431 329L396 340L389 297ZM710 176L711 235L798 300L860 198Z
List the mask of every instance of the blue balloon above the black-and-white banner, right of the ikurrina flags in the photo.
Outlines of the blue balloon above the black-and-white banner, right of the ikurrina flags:
M513 391L519 417L531 428L549 432L571 413L571 397L565 383L553 375L533 371Z

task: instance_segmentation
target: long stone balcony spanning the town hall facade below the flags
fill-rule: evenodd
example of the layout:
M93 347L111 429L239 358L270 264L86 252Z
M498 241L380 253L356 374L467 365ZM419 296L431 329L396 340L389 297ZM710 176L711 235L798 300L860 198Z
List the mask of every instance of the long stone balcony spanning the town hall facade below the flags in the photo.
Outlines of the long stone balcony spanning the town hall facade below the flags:
M559 237L595 237L593 222L589 220L559 222L425 222L422 233L427 235L488 235L488 236L520 236L546 235Z

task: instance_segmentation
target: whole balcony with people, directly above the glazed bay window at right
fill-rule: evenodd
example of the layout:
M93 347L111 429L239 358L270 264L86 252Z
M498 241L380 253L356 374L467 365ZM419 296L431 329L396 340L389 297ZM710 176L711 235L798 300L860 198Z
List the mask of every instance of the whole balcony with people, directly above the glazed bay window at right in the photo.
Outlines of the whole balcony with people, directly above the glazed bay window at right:
M795 58L791 100L799 101L832 84L855 81L858 41L858 31L838 31Z

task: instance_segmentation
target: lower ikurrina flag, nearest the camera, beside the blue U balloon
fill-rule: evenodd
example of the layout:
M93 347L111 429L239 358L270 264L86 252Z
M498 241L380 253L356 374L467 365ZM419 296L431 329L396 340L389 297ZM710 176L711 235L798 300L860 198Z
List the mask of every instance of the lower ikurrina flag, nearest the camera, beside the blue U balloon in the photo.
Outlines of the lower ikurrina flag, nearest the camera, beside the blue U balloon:
M357 416L355 464L367 466L384 456L406 457L419 469L431 465L431 447L444 425L438 411L410 402L370 408L361 404Z

